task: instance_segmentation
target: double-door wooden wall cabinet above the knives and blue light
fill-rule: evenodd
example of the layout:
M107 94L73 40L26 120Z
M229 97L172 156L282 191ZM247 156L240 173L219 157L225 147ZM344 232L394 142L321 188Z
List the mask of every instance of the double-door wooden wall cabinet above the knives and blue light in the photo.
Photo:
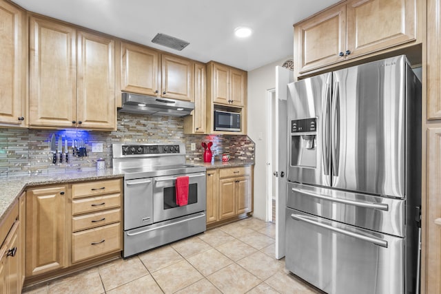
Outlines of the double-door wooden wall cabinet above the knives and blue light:
M30 127L115 129L112 38L30 17L29 80Z

